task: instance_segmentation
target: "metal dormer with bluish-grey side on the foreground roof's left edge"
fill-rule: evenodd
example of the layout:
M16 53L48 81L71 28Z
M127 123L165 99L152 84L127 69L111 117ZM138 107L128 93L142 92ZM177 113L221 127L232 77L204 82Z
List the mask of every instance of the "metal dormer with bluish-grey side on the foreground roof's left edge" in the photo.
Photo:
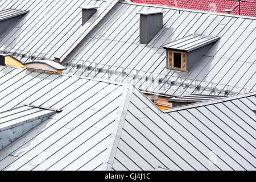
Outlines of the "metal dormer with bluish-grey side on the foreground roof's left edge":
M19 106L1 112L0 150L55 113L55 110L46 110L30 106Z

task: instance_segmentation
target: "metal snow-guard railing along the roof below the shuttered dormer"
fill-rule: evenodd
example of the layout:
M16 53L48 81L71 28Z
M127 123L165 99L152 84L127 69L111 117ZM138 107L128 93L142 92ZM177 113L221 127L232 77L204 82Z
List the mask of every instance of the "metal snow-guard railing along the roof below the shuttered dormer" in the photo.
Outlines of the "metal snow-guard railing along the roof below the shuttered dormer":
M92 78L104 78L118 82L133 82L135 85L138 84L139 81L143 81L144 84L142 83L142 85L146 87L145 91L150 92L148 90L152 90L152 93L159 93L160 89L169 90L172 86L176 85L178 86L178 93L182 93L184 89L192 88L193 93L200 93L201 90L206 90L211 95L216 93L222 94L224 96L239 94L238 92L232 91L232 89L230 89L230 85L224 85L220 83L217 84L207 81L202 82L198 80L191 80L188 78L183 78L181 76L171 76L170 80L170 78L167 78L167 75L164 75L162 73L154 73L124 67L116 67L114 65L108 64L98 64L92 61L66 58L63 65L67 68L67 72L73 75ZM157 90L157 86L155 87L154 84L160 86L160 89ZM217 88L217 85L222 89ZM148 89L148 87L150 86L152 86L152 88ZM139 89L141 88L142 86L139 86ZM244 88L236 88L244 90L246 92L246 89Z

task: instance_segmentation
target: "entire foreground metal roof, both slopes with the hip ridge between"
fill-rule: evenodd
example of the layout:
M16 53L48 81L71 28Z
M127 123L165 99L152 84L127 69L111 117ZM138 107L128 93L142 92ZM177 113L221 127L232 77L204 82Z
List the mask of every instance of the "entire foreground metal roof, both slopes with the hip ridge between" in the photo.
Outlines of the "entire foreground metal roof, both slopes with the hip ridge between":
M0 111L62 110L3 148L0 169L254 170L255 94L163 113L134 86L0 66Z

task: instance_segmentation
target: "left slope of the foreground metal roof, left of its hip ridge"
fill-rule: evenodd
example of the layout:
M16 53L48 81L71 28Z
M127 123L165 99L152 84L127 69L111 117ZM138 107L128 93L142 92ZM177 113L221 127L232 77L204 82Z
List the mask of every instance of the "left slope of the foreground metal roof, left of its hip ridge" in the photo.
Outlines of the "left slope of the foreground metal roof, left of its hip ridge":
M0 111L62 110L0 151L0 170L102 169L124 87L108 81L0 67Z

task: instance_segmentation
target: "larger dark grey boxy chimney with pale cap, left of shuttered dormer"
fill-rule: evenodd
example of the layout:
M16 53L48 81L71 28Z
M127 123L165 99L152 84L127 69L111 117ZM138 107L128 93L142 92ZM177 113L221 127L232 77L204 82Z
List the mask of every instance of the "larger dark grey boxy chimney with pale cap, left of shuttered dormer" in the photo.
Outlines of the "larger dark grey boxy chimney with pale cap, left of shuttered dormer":
M163 13L160 10L146 10L140 11L139 22L139 42L141 44L148 44L152 38L163 27Z

